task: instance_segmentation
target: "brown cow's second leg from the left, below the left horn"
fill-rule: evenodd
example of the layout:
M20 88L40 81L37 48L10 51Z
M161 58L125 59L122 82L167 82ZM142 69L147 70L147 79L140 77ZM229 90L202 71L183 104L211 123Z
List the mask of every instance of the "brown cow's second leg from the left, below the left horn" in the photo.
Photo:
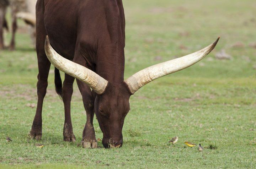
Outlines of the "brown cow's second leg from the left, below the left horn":
M70 116L70 102L73 94L73 83L75 78L65 74L65 80L63 82L62 99L65 110L65 121L63 129L63 140L75 142L75 135L73 133L73 127Z

